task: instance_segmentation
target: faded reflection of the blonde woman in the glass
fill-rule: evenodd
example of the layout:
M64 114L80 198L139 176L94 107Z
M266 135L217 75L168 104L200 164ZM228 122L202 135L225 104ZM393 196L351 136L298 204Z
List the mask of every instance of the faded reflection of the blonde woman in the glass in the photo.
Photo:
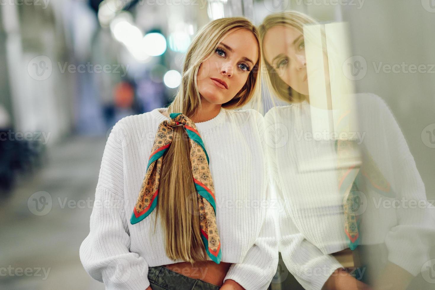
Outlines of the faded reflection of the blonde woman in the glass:
M357 117L355 146L362 155L360 170L355 171L359 174L350 183L349 192L357 192L359 196L352 201L364 206L351 217L357 221L349 223L345 231L348 210L344 210L339 194L341 167L336 162L338 154L343 153L338 145L341 143L313 134L313 122L328 122L328 117L321 120L328 116L328 108L310 103L303 35L304 25L309 24L318 23L303 13L287 11L268 15L260 26L271 93L288 104L274 107L265 115L266 130L275 141L268 147L272 176L285 204L279 219L284 263L305 289L361 289L367 284L382 288L389 283L391 289L405 289L429 259L432 217L423 208L379 204L405 198L427 206L424 184L385 102L374 94L349 95L356 111L351 110L348 116ZM329 90L328 76L326 83ZM348 230L358 234L348 236ZM385 251L367 245L384 245ZM348 273L349 269L336 259L336 253L352 256L357 252L346 251L349 247L356 247L361 262L369 266L356 269L365 271L359 276Z

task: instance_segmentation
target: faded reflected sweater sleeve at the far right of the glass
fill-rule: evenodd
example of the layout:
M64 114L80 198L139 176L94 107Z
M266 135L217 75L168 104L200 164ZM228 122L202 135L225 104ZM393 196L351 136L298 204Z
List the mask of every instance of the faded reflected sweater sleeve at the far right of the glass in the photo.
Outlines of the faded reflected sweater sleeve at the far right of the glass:
M372 97L381 116L378 124L381 136L376 137L384 136L382 144L386 144L381 156L392 159L387 161L394 170L391 183L395 200L403 201L395 207L397 224L385 236L388 260L417 276L430 259L431 241L435 238L433 209L426 200L425 185L398 123L387 104L377 95L372 94Z

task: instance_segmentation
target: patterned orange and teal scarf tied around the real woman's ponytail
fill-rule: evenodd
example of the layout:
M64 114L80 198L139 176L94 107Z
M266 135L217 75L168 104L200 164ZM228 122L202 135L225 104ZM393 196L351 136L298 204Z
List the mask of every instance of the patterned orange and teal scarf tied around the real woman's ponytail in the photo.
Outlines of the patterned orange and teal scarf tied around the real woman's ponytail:
M156 207L160 168L164 153L171 146L175 126L183 126L190 141L190 160L193 182L197 191L201 237L208 256L215 263L221 262L221 240L216 224L214 184L209 169L207 151L195 123L182 113L171 113L171 120L164 120L157 130L142 187L131 215L131 224L147 217Z

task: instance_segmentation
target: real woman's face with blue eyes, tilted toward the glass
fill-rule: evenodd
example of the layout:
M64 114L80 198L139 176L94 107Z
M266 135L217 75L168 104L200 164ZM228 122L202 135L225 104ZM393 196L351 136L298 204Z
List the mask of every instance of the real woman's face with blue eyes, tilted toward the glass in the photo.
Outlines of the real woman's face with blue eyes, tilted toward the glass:
M244 86L258 61L258 43L244 28L233 28L224 35L211 57L201 63L197 86L201 101L223 104Z

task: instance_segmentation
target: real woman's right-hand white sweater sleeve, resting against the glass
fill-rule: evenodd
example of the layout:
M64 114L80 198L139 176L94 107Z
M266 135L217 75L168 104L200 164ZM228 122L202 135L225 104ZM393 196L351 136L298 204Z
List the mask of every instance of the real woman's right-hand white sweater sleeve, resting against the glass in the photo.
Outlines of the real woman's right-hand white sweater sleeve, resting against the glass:
M262 153L265 155L264 143L264 117L255 110L251 110L257 123L258 134L261 140ZM266 160L266 159L265 159ZM271 182L269 180L268 166L265 162L265 192L266 210L261 222L260 233L252 247L241 263L234 263L228 270L225 280L231 279L239 283L246 290L268 289L278 268L278 238L277 225L271 200ZM251 217L247 217L251 218Z

